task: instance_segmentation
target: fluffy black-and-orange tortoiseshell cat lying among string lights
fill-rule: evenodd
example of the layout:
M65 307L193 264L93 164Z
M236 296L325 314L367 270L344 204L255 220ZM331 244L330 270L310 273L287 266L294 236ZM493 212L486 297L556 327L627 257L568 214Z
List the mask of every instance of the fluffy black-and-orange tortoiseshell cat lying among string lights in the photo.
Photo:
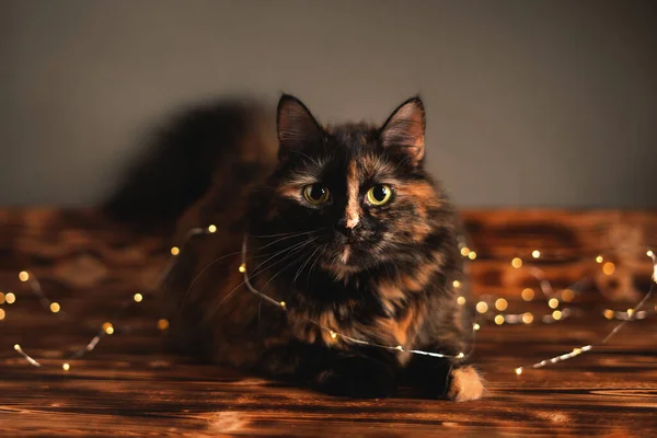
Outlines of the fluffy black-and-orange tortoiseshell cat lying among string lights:
M456 214L423 165L422 101L404 102L381 127L322 127L299 100L284 95L274 143L261 135L256 112L242 107L241 114L232 126L239 135L212 145L209 155L198 148L210 146L195 145L212 139L219 116L210 110L184 118L166 137L194 151L176 155L184 172L203 168L199 174L207 174L195 175L203 181L194 189L181 183L195 191L196 201L178 220L178 241L193 227L217 227L185 245L169 276L177 344L219 364L331 394L387 396L408 382L427 396L479 399L480 376L468 355L459 356L470 348L473 300ZM132 205L149 196L143 187L131 191ZM123 204L120 193L113 200L115 211L130 206L128 192ZM238 267L244 235L251 283L285 301L287 312L243 285ZM453 358L359 345L308 319L370 344Z

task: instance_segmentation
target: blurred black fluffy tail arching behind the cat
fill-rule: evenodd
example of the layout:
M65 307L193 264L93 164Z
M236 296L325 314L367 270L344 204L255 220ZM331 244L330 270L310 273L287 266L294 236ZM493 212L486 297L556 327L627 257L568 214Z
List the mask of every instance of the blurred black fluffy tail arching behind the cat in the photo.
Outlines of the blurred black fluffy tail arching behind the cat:
M240 164L270 159L265 107L224 100L186 108L157 131L101 210L136 228L162 228Z

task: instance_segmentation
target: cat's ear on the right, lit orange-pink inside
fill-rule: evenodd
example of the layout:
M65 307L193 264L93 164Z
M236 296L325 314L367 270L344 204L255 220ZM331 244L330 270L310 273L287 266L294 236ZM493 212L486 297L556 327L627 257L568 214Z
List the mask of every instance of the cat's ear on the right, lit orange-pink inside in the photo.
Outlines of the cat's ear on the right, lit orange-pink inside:
M418 96L401 104L385 120L380 131L383 149L395 148L419 164L425 155L425 111Z

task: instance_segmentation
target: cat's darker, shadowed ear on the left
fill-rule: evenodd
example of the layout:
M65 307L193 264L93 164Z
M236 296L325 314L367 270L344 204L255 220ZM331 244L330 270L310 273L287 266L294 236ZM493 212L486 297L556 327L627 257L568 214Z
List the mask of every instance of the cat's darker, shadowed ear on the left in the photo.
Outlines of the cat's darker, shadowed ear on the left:
M289 94L278 101L276 129L279 158L322 142L322 128L315 118L300 100Z

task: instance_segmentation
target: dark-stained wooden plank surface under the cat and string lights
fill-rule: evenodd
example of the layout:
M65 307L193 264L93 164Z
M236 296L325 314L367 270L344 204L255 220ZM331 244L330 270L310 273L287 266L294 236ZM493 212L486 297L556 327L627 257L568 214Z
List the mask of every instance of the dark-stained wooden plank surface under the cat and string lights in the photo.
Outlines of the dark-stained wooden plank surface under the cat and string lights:
M390 400L330 397L171 355L157 326L154 290L170 257L165 239L117 229L93 211L0 211L0 290L16 297L0 306L0 435L655 436L657 316L627 324L602 349L521 376L514 370L598 341L616 324L602 308L626 309L649 285L650 264L634 250L645 253L642 245L657 241L657 215L468 211L464 219L477 251L475 288L506 296L510 310L550 311L542 300L518 300L531 278L509 264L512 256L528 263L538 247L544 257L535 263L555 287L588 272L593 286L615 279L606 301L620 301L602 302L591 289L572 304L583 310L579 318L483 325L476 355L488 393L456 404L407 391ZM599 276L592 258L618 246L614 239L626 246L606 255L615 257L616 272ZM19 281L22 269L41 280L59 313L43 309L30 283ZM614 291L627 278L636 290ZM143 300L135 302L135 293ZM131 304L112 318L123 303ZM106 321L114 334L67 359ZM28 365L16 343L42 367Z

